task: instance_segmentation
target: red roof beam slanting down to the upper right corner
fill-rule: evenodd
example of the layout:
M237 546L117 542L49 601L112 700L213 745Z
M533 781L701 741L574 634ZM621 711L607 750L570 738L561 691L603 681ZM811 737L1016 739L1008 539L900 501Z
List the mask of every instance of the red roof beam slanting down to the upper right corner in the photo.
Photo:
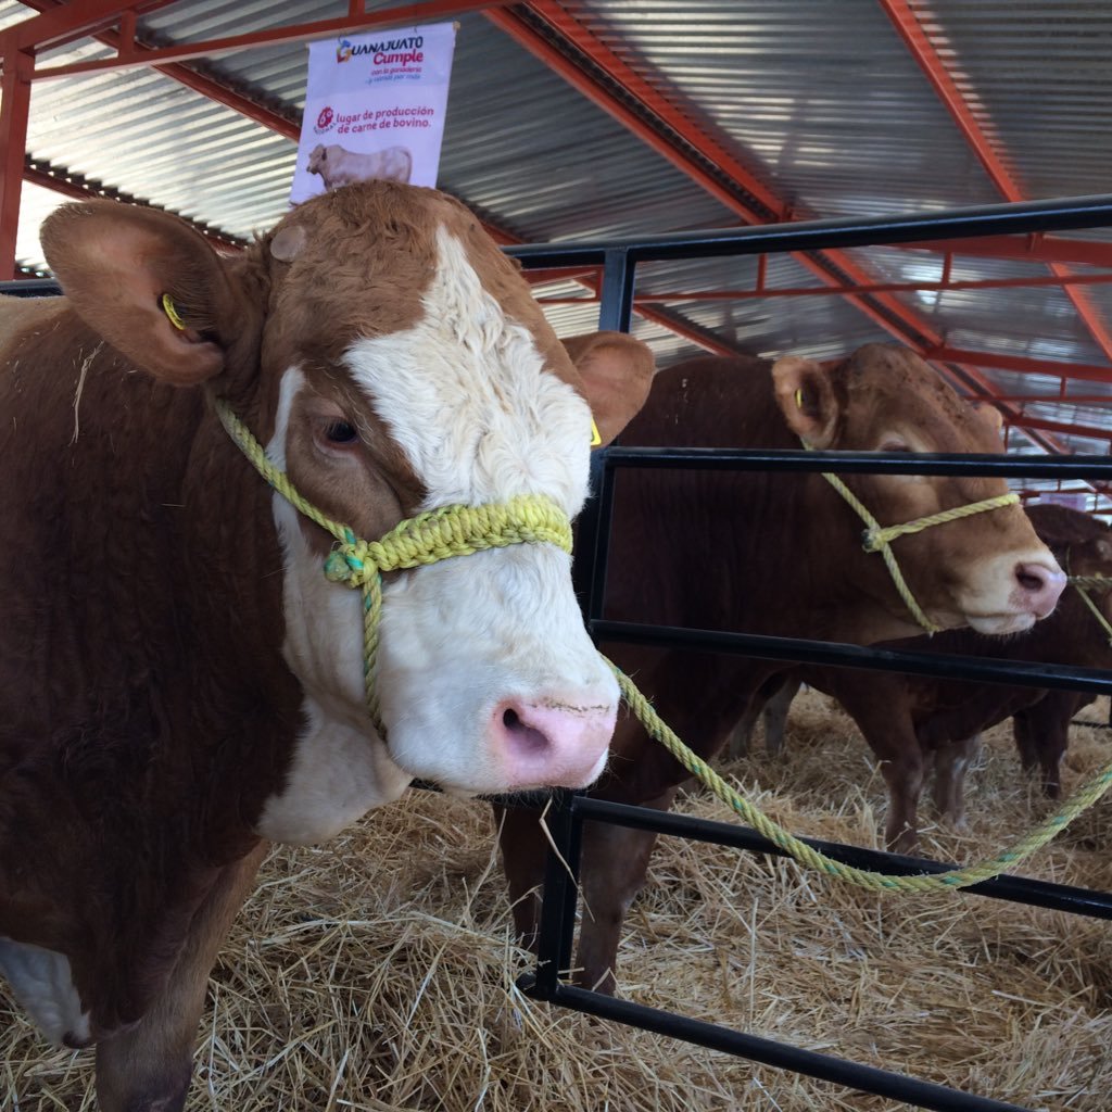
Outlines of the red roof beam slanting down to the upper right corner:
M1007 201L1030 200L1004 165L997 149L984 133L981 125L977 123L965 97L957 88L945 61L935 51L909 0L880 0L880 4L1004 199ZM1059 277L1070 274L1061 264L1050 262L1049 266ZM1078 316L1084 321L1098 347L1104 353L1105 358L1112 361L1112 335L1105 328L1100 314L1082 290L1066 287L1065 295L1073 302ZM1112 367L1109 368L1109 377L1112 378Z

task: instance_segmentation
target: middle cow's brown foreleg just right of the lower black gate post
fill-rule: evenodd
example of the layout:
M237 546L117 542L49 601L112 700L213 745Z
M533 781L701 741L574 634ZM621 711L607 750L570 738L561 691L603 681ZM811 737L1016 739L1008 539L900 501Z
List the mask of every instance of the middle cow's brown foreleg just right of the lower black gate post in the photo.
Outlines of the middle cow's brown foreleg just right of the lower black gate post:
M668 788L643 807L667 811L676 788ZM648 860L656 845L652 831L635 831L608 823L586 823L583 828L583 921L579 926L576 983L613 994L622 925L634 896L645 883Z

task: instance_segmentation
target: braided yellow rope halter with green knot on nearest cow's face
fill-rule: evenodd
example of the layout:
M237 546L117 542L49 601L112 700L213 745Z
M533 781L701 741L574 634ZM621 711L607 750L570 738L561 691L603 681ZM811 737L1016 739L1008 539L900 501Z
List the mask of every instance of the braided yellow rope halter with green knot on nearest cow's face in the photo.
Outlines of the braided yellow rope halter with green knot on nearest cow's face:
M334 522L307 502L285 471L267 459L262 446L228 405L220 399L216 399L215 405L220 423L255 469L295 509L336 538L337 545L325 560L325 576L331 583L342 583L363 592L364 691L367 712L384 739L386 729L375 689L383 573L526 543L552 544L564 552L572 550L572 523L564 510L544 495L522 495L485 506L446 506L400 522L379 540L364 540L348 526Z

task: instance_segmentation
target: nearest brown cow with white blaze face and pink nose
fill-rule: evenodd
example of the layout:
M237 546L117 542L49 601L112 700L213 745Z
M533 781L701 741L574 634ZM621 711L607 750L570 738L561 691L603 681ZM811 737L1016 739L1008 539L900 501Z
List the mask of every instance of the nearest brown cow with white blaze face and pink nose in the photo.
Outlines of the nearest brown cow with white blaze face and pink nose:
M575 515L592 414L614 436L652 358L604 335L573 366L478 220L394 182L236 259L108 201L42 240L66 296L0 309L0 967L51 1039L97 1043L106 1112L171 1112L264 840L327 838L414 777L589 783L617 705L568 555L518 544L386 577L379 736L331 538L211 396L374 539L522 494Z

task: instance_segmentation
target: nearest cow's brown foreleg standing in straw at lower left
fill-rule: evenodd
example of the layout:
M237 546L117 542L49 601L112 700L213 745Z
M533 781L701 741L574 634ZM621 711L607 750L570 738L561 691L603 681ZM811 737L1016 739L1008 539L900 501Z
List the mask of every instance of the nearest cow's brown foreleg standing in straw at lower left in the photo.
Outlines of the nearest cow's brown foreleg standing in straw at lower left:
M190 924L166 987L138 1023L97 1044L97 1099L101 1112L179 1112L192 1074L192 1051L205 990L255 873L260 843L228 865Z

